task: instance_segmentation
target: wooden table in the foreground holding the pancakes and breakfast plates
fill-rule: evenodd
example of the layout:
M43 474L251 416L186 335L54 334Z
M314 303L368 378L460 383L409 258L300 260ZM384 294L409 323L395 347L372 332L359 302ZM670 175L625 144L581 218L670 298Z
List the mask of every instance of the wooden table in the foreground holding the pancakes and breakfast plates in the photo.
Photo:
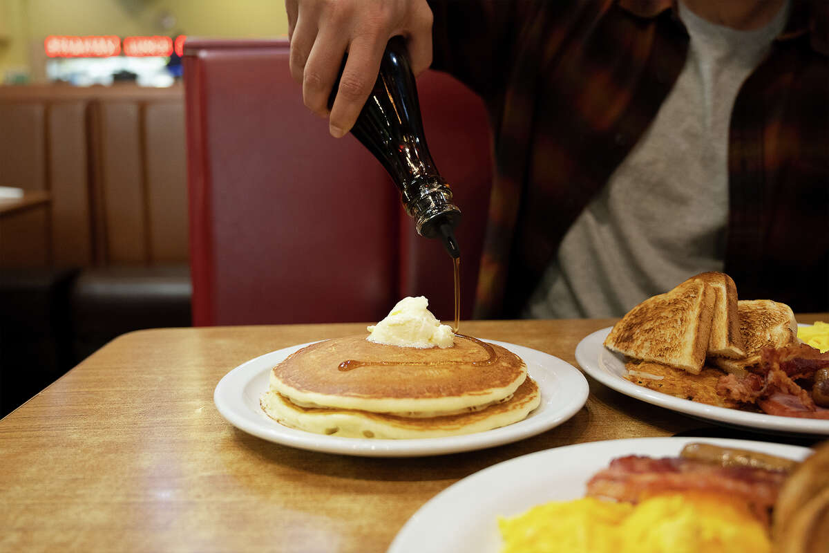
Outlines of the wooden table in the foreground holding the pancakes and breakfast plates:
M829 320L798 320L821 318ZM462 329L575 365L579 340L611 323ZM158 329L110 342L0 421L0 551L385 551L424 502L494 463L600 439L728 434L591 379L587 405L555 429L426 458L292 449L235 429L216 410L216 383L243 361L365 326Z

